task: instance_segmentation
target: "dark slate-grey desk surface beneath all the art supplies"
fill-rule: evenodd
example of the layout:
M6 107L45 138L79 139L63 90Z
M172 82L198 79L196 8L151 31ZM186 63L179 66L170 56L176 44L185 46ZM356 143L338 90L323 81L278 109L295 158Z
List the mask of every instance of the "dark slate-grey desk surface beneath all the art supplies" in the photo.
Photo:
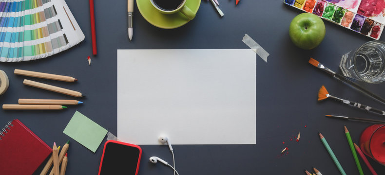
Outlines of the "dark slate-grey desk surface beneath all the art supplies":
M173 30L152 26L139 14L135 4L134 38L129 42L127 1L96 0L98 54L92 56L88 0L67 0L86 36L85 40L70 50L49 58L0 63L0 70L4 70L10 80L8 91L0 96L0 104L16 104L19 98L72 99L24 86L22 81L25 77L14 75L15 68L76 77L79 80L77 83L39 81L83 92L87 95L87 98L81 99L84 104L62 111L0 110L0 123L19 119L49 145L54 141L63 145L70 138L62 131L78 110L116 134L117 49L244 49L248 47L241 40L243 35L248 34L270 53L268 63L256 58L257 144L173 145L180 175L303 175L304 169L310 170L313 166L324 175L338 175L339 172L322 145L317 131L327 138L346 173L358 175L343 126L348 127L353 141L358 142L360 133L370 123L327 119L324 115L341 114L373 119L381 119L381 116L332 100L319 103L318 89L325 85L336 96L382 109L385 106L315 69L308 64L308 59L311 56L330 69L338 70L341 55L370 38L325 21L327 32L324 41L311 51L303 51L292 45L288 34L291 19L301 11L284 5L283 0L241 0L237 6L234 1L219 0L220 8L225 13L224 18L220 18L212 4L202 0L196 18ZM380 40L384 41L384 37ZM91 66L86 59L88 55L92 57ZM385 84L360 84L385 97ZM308 127L305 128L305 125ZM300 142L290 141L298 131L301 131ZM102 146L94 154L72 140L68 150L67 174L96 175ZM166 145L141 147L143 155L140 175L173 174L163 164L154 165L148 161L149 157L158 156L172 162ZM289 154L281 156L281 150L285 147L289 147ZM369 162L378 174L385 174L384 166L372 160ZM370 174L364 163L362 166L365 174Z

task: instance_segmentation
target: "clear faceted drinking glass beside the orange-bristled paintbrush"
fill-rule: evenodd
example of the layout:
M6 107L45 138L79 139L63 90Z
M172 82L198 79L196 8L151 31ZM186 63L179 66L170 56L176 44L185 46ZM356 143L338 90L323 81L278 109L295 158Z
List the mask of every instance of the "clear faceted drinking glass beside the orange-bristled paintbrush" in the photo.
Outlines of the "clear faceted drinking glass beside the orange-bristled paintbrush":
M340 69L346 77L367 83L385 81L385 42L369 41L342 55Z

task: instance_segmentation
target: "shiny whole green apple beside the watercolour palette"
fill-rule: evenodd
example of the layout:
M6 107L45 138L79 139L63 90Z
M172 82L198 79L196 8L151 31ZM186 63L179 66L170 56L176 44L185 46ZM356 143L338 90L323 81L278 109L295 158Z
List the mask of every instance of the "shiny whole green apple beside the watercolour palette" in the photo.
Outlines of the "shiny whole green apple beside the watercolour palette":
M324 21L317 15L302 13L290 23L291 41L301 49L310 50L317 47L325 37Z

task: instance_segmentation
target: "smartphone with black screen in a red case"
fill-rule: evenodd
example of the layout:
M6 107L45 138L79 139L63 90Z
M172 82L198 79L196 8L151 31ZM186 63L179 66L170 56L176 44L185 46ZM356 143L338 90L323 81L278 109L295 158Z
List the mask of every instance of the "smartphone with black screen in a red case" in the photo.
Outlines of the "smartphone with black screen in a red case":
M99 175L137 175L141 149L137 145L109 140L99 168Z

